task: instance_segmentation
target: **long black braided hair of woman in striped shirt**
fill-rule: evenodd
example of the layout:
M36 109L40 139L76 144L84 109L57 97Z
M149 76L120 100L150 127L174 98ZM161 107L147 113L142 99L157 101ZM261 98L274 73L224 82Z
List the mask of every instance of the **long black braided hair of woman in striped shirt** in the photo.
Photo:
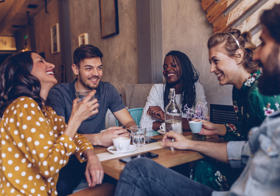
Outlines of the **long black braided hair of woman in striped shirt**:
M173 62L177 63L180 67L180 90L181 90L181 104L182 110L184 106L188 104L188 107L191 108L195 105L195 82L199 79L199 72L196 68L194 68L193 64L189 60L189 57L180 52L172 50L166 54L166 57L172 55ZM176 71L178 74L177 66ZM171 88L171 84L166 81L166 86L163 93L164 107L166 107L169 103L169 91ZM180 103L178 103L180 105Z

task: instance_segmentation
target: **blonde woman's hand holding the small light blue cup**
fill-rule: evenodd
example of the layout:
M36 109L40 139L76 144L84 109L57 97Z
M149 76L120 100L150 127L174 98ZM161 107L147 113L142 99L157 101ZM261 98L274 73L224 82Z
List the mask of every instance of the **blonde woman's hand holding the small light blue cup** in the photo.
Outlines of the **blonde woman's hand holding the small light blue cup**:
M202 128L199 135L225 135L226 134L226 126L223 124L214 124L206 120L193 119L202 121Z

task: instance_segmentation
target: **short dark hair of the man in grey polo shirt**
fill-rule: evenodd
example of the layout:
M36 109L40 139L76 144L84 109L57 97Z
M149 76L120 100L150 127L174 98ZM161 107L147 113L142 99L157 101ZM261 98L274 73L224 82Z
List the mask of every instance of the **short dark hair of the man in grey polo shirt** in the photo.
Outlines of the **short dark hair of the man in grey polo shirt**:
M86 44L78 47L73 54L74 64L80 68L80 62L84 60L84 58L94 58L99 57L102 62L103 54L99 48L96 46Z

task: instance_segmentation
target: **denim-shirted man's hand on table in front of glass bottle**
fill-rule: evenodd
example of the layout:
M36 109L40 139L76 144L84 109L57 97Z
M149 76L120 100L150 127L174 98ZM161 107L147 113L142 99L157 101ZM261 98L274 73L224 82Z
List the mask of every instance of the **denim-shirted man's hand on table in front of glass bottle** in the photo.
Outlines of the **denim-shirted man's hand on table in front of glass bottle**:
M174 142L171 142L172 139L174 139ZM174 131L167 132L162 138L162 146L174 147L179 150L190 149L191 143L192 140Z

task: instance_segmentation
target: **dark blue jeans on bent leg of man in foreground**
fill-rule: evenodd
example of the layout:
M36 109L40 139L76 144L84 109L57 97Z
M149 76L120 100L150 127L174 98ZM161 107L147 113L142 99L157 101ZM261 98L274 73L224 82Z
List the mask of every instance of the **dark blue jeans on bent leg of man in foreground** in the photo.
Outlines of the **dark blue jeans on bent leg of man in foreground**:
M210 196L213 191L150 159L140 158L125 166L115 196Z

